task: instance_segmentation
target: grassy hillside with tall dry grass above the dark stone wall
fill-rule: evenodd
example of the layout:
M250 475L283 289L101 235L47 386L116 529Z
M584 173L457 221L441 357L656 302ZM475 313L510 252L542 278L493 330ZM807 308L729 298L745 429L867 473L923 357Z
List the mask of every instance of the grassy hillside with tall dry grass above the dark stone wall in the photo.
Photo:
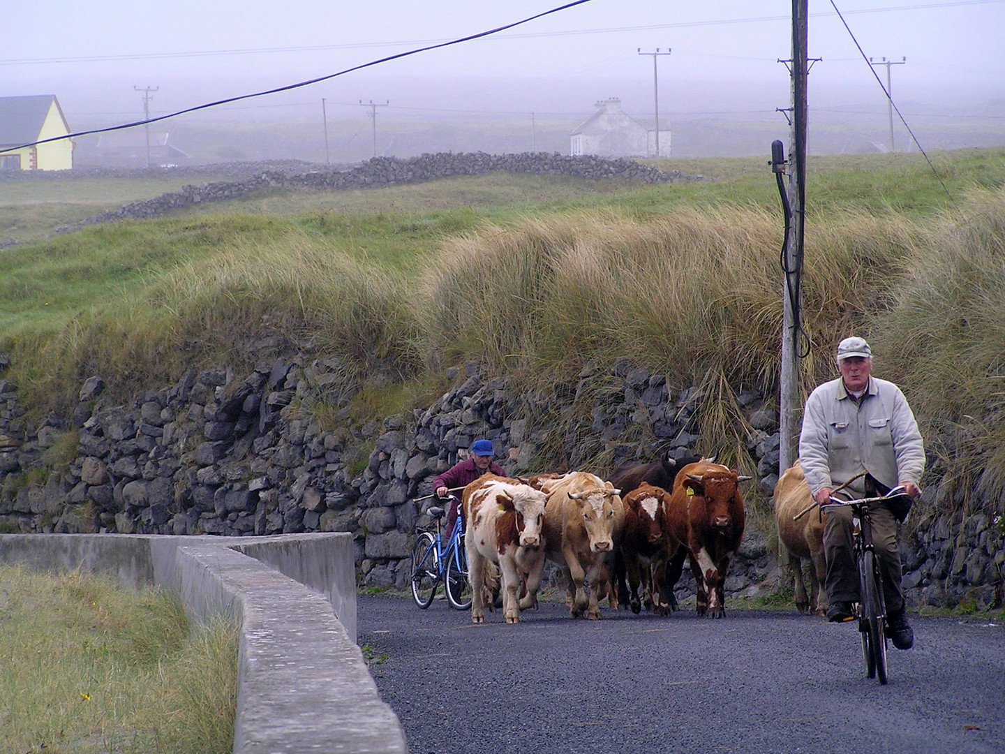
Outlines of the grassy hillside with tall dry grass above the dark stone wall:
M919 155L810 160L804 385L832 374L840 337L864 335L876 373L904 386L939 475L1002 500L1005 151L931 159L935 173ZM0 250L7 376L40 414L72 405L81 376L100 372L126 399L190 366L246 368L250 346L275 336L339 360L391 413L468 359L536 389L628 356L718 396L707 434L739 447L735 391L776 389L774 177L767 157L657 164L707 180L490 175L272 191ZM49 195L57 184L22 200L25 212L45 208L36 234L88 196L128 193L114 183L74 194L67 182ZM575 419L548 417L557 438Z

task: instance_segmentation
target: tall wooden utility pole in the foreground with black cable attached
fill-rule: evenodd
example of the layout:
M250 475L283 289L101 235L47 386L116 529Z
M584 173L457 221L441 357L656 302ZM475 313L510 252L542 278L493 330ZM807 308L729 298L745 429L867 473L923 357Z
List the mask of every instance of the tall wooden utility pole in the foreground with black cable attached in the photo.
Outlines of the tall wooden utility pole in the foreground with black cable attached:
M785 286L782 293L782 369L779 375L778 469L784 472L795 462L799 443L799 329L796 318L800 300L799 268L803 257L803 207L806 203L806 79L808 0L792 0L792 89L791 152L789 154L789 204L792 215L785 258Z

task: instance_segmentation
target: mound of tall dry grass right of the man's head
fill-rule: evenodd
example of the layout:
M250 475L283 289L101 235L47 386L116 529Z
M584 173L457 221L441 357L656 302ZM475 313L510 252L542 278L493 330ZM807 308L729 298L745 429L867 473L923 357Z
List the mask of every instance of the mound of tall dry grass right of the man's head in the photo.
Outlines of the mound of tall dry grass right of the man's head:
M1005 512L1005 189L947 213L870 317L937 457L942 504ZM973 493L977 493L977 498Z

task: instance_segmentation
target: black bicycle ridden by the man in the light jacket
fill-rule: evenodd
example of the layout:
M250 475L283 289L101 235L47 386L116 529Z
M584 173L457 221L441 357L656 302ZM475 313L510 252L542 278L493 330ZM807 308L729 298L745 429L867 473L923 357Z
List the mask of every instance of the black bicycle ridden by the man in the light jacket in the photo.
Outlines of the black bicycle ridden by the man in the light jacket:
M830 503L820 506L821 511L850 508L854 529L855 560L858 563L858 630L862 634L862 658L865 677L878 677L885 685L886 673L886 602L883 599L882 576L875 548L872 545L872 527L869 511L887 506L908 496L902 487L894 487L878 498L844 501L831 497Z

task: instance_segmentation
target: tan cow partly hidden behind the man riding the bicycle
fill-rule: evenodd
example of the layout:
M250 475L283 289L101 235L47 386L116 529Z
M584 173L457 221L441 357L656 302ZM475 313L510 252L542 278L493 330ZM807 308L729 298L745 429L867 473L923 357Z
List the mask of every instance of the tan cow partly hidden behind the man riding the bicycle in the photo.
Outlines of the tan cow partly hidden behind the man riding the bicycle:
M800 514L799 520L795 520ZM795 582L796 607L800 612L823 615L827 612L827 596L820 585L827 575L827 561L823 554L823 527L827 514L813 508L813 494L806 484L798 458L775 485L775 521L778 523L778 540L788 553L789 570ZM803 581L803 560L811 561L808 595Z

